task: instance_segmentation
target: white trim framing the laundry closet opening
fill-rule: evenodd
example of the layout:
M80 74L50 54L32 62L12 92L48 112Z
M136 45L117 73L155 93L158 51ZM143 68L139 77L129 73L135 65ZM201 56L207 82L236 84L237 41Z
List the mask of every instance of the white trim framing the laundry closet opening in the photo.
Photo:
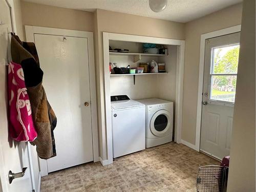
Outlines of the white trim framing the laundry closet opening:
M182 130L182 104L183 104L183 74L184 74L184 53L185 40L149 37L140 35L127 35L120 33L103 32L103 65L104 65L104 103L101 108L104 109L105 127L102 127L102 135L106 139L106 146L102 146L103 153L106 153L108 164L113 163L113 144L112 144L112 122L111 122L111 101L110 101L110 71L109 71L109 40L121 40L132 42L148 42L152 44L175 45L177 46L177 70L176 70L176 99L175 99L175 136L177 143L181 142ZM104 134L103 134L104 133Z

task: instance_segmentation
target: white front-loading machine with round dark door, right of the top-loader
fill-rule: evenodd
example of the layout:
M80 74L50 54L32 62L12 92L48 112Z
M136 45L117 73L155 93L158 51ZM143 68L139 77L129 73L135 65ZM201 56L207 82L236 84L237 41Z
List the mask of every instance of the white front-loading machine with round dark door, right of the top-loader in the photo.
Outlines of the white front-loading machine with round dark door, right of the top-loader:
M173 140L173 102L162 99L142 99L146 110L146 148Z

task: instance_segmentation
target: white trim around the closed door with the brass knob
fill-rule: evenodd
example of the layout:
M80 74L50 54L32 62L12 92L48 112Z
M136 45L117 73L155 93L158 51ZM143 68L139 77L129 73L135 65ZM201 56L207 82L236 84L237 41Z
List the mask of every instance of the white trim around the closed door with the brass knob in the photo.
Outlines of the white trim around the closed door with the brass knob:
M48 27L25 26L27 41L34 42L34 34L63 35L73 37L84 37L88 40L88 59L89 59L89 79L92 115L92 137L93 137L93 161L99 161L98 145L98 124L97 124L97 101L96 101L96 82L95 82L95 62L94 62L94 42L93 32L76 31L67 29L56 29ZM41 176L48 175L47 161L39 158Z

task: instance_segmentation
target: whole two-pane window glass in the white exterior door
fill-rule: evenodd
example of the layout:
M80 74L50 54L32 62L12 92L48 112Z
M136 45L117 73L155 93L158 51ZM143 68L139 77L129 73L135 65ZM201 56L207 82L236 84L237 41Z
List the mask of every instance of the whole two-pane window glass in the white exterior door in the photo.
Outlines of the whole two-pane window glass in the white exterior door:
M210 100L234 102L236 95L239 44L211 50Z

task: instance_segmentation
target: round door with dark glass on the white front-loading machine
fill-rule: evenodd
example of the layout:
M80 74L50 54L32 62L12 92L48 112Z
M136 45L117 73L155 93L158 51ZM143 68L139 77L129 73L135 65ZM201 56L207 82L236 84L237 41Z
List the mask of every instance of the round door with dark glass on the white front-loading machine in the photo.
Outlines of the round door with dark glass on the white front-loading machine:
M170 118L170 113L165 110L159 110L156 112L150 121L150 130L155 136L165 136L169 129L172 129L170 125L172 124L172 118Z

